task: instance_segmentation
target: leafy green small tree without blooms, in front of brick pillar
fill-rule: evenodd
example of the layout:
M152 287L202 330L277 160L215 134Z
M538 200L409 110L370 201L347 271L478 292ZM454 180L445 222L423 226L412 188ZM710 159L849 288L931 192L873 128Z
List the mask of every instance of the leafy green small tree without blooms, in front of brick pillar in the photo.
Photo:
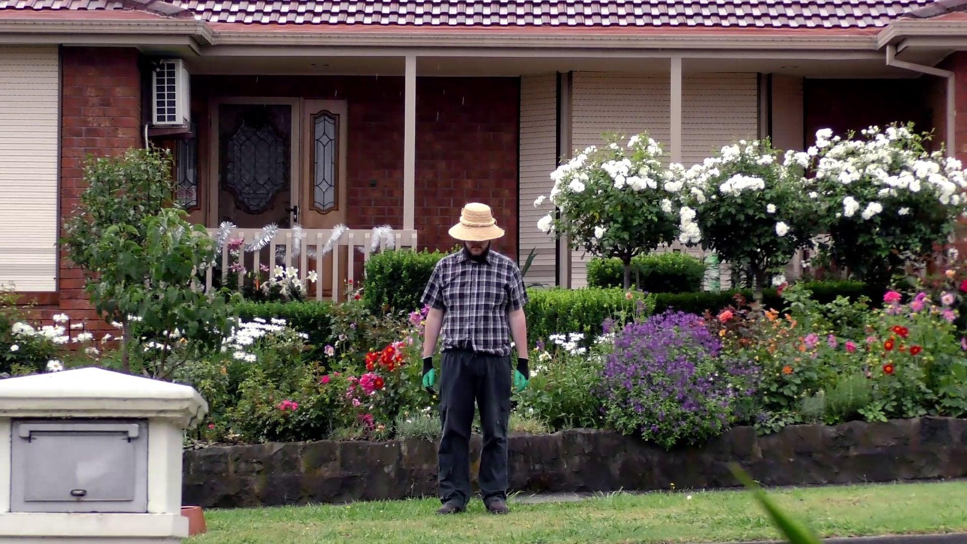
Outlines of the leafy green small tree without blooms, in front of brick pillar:
M121 324L123 370L131 372L131 349L144 338L161 354L143 371L160 378L177 366L167 360L172 343L189 344L185 353L214 348L230 327L223 293L203 293L195 280L215 242L184 211L166 207L170 171L167 154L155 150L89 160L88 188L63 240L95 310Z

